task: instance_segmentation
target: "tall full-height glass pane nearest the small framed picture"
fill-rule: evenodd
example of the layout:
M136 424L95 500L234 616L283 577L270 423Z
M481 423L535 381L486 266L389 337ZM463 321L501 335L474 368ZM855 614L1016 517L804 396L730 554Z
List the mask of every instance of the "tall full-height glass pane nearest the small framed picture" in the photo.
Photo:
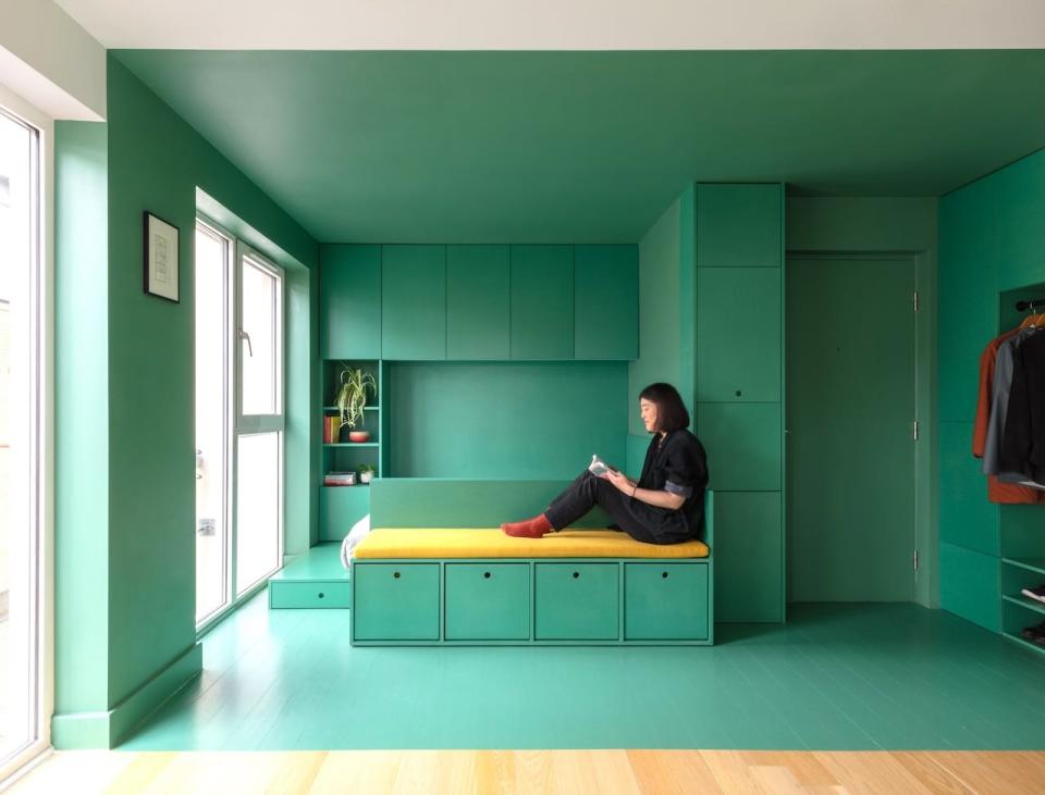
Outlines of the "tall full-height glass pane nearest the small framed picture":
M228 291L230 244L196 231L196 622L229 600Z

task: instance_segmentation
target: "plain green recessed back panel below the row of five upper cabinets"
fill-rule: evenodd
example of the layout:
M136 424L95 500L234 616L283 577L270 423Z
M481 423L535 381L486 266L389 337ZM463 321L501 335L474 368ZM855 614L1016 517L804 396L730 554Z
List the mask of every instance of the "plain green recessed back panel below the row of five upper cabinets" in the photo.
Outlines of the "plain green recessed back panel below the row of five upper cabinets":
M626 362L391 362L395 477L573 480L625 460Z

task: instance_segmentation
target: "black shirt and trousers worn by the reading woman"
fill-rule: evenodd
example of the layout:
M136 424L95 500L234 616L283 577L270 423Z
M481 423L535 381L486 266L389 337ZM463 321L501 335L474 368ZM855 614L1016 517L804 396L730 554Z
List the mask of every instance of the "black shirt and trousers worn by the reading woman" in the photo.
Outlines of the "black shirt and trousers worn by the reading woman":
M556 530L568 527L594 506L608 513L615 526L647 544L680 544L697 538L703 530L708 465L704 448L689 431L668 434L663 446L654 436L646 455L639 488L689 489L678 510L657 508L622 493L610 481L585 470L544 511ZM665 488L665 484L672 485ZM674 486L674 488L672 487Z

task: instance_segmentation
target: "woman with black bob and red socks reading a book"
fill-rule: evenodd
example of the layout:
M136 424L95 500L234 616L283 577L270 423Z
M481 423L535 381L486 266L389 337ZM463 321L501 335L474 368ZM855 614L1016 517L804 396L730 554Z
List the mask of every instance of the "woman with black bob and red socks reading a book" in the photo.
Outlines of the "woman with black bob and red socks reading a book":
M512 536L540 538L568 527L594 506L601 507L636 541L679 544L703 532L708 458L688 430L689 412L671 384L650 384L639 395L639 410L653 434L636 483L622 472L594 475L585 470L543 513L501 530Z

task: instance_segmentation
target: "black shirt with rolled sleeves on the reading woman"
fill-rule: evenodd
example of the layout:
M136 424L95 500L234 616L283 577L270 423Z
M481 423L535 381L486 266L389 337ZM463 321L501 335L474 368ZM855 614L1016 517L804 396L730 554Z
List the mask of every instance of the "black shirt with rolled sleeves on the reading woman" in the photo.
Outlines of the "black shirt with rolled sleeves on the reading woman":
M664 437L663 444L660 433L653 435L646 451L639 488L671 492L685 497L686 501L678 512L685 518L692 536L703 535L708 455L700 439L689 431L672 431Z

